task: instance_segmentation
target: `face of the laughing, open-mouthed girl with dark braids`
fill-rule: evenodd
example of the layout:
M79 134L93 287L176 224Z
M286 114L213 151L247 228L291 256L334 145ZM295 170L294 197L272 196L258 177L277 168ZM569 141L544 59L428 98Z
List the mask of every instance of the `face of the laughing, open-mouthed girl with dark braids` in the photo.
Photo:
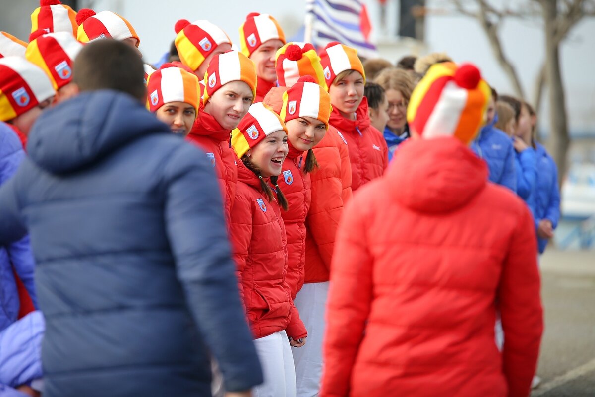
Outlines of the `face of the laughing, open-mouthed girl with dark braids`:
M261 171L263 178L278 176L287 157L287 135L283 130L269 134L248 152L250 162Z

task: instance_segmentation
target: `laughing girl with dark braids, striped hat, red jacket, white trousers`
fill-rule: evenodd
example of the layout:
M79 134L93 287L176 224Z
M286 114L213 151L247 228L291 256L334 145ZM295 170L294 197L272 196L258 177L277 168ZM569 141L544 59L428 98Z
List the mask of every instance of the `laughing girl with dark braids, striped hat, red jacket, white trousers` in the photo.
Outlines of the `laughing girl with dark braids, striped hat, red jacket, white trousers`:
M287 200L277 178L288 152L287 127L258 102L233 130L231 145L240 161L230 237L240 295L264 370L255 395L295 396L290 346L303 346L307 332L286 282L287 239L279 207L287 210Z

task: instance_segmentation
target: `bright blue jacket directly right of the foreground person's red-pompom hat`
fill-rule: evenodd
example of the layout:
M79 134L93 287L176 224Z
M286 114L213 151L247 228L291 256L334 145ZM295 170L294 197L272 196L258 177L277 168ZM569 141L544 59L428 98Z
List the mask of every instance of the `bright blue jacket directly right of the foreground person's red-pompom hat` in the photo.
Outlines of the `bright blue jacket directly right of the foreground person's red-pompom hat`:
M497 115L481 128L480 134L471 142L471 150L486 161L491 182L516 193L515 148L510 137L494 127L496 121Z

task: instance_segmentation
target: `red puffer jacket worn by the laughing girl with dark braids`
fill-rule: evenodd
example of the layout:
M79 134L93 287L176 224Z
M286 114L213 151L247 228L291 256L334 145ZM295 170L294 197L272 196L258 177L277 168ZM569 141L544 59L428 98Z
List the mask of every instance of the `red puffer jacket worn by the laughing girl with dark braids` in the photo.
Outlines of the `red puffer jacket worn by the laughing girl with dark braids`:
M287 240L276 201L262 193L256 175L238 161L230 239L240 295L255 339L286 330L293 339L308 335L286 282Z

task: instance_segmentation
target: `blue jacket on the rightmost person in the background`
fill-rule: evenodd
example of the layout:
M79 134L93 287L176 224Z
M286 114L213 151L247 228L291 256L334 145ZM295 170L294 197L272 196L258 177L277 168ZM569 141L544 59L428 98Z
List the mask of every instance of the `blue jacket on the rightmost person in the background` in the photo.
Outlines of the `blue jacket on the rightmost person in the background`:
M558 221L560 220L560 191L556 163L540 143L536 143L536 145L537 180L535 189L527 199L527 204L531 208L531 212L533 212L537 232L537 226L542 219L549 219L554 229L558 227ZM537 238L537 240L539 253L543 254L548 240L540 238Z

